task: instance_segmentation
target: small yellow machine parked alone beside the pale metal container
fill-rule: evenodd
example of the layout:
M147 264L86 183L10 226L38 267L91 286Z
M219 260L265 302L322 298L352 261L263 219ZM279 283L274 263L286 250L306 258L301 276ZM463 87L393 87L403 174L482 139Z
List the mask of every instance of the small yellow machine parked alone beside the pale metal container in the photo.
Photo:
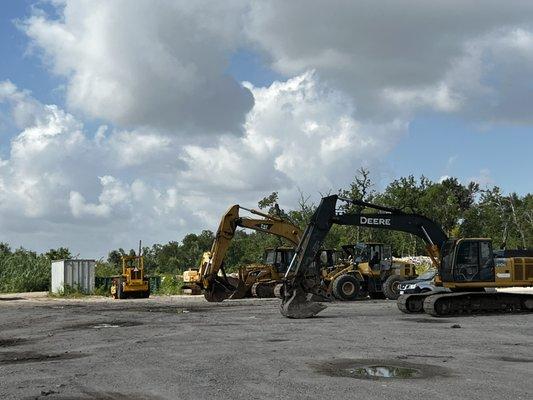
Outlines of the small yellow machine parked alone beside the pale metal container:
M150 297L150 282L144 275L140 242L138 255L122 256L122 274L113 277L111 297L114 299Z

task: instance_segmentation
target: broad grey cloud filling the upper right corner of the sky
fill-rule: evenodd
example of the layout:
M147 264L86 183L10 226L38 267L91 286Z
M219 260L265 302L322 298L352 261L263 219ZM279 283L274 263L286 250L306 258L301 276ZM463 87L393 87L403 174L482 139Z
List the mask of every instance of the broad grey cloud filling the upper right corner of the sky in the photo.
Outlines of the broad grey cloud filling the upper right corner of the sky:
M362 118L420 109L530 121L533 3L255 2L246 32L286 75L316 69ZM527 82L519 84L517 82Z

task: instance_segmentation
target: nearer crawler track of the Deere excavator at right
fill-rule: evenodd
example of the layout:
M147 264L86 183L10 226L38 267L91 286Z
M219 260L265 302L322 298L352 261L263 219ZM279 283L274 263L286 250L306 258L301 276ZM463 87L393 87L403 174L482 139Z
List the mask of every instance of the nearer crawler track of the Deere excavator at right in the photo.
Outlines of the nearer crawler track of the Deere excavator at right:
M440 293L424 300L424 312L434 317L468 314L532 313L533 295L521 293Z

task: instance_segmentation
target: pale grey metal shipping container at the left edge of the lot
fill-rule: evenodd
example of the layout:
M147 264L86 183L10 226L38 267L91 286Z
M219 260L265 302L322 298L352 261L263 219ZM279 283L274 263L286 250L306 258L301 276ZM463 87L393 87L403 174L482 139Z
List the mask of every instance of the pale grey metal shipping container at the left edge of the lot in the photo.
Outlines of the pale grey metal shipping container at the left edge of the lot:
M84 293L94 292L94 260L52 261L52 293L65 287L79 288Z

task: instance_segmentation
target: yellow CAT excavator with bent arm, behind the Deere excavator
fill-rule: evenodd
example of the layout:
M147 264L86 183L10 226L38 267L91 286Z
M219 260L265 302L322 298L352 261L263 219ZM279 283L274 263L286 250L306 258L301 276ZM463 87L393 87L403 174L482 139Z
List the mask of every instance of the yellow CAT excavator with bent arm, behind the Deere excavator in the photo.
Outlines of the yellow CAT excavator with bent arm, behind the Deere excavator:
M240 210L262 218L242 217ZM185 287L199 288L208 301L222 301L227 298L242 298L246 295L257 297L273 297L274 287L279 283L294 255L292 247L267 249L263 264L242 267L238 271L238 279L227 276L224 270L224 257L237 228L247 228L265 232L284 238L293 246L300 241L301 230L277 215L261 211L231 206L222 217L211 246L211 251L202 255L200 267L185 271L183 280Z

